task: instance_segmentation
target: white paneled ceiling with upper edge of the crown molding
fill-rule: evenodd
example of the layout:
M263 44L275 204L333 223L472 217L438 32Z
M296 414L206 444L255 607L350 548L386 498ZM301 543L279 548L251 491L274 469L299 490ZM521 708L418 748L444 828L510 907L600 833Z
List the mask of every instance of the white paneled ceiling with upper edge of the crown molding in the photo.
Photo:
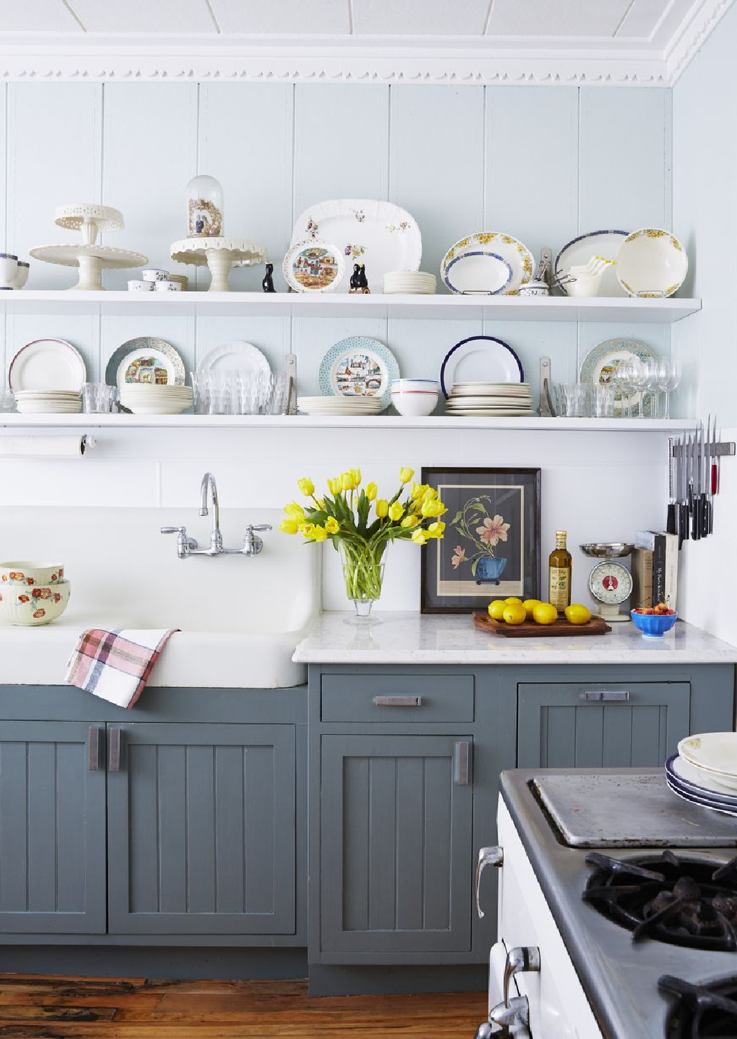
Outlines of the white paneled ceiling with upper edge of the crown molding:
M650 62L667 81L689 36L700 45L732 0L0 0L0 53L202 53L285 45L333 55L402 47L524 61L541 53ZM243 50L245 53L245 50ZM294 50L291 51L294 53ZM394 50L394 53L397 51ZM683 55L679 54L683 63ZM658 62L660 64L658 65ZM671 65L673 65L671 61ZM634 66L633 66L634 68ZM581 64L577 78L591 77ZM589 71L589 73L588 73ZM680 71L680 70L678 70ZM7 74L7 73L6 73ZM354 74L355 75L355 74ZM385 76L382 72L381 75ZM403 73L406 75L406 73ZM455 74L454 74L455 75ZM607 73L599 78L606 79ZM437 78L432 74L432 78ZM481 74L484 78L484 74ZM535 78L535 77L530 77ZM573 78L576 78L574 76ZM596 77L594 77L596 78ZM617 77L615 77L617 78ZM637 73L620 78L637 79Z

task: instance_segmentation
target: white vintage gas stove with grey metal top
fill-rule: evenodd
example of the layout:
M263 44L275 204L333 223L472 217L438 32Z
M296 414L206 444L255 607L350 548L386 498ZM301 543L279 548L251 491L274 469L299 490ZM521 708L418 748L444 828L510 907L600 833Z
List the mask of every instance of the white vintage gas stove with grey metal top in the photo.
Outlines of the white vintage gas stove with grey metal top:
M736 1039L734 819L660 770L516 770L497 824L476 872L479 903L499 868L479 1039Z

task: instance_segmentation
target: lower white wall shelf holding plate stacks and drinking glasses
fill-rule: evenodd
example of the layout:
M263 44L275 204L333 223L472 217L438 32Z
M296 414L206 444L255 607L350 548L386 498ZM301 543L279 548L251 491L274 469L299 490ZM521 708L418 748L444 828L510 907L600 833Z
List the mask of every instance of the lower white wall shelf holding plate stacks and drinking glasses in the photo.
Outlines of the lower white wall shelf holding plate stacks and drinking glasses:
M0 427L15 429L529 429L581 432L668 433L693 429L695 419L464 419L431 415L0 415Z

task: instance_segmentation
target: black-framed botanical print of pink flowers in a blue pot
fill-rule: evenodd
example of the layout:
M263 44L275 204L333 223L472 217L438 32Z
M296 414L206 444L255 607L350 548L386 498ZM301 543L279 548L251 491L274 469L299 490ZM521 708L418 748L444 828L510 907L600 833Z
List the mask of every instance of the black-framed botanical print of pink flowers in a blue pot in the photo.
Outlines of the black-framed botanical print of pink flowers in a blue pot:
M422 549L422 613L470 613L492 598L540 598L540 470L424 469L447 507Z

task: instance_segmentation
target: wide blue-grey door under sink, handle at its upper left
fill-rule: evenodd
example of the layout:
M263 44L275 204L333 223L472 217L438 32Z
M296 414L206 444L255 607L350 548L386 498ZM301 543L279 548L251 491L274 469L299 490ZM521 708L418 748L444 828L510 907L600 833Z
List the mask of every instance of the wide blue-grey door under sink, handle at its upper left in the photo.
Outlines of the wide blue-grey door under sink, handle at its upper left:
M294 726L109 725L108 746L110 934L294 934Z

